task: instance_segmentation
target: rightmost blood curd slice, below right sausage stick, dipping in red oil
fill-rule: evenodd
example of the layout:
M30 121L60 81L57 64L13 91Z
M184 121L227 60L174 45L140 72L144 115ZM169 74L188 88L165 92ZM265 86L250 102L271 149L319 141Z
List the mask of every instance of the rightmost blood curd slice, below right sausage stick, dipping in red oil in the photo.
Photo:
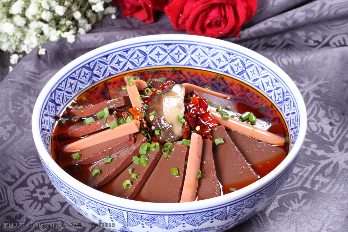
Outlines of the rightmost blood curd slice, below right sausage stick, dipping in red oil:
M227 130L227 133L260 177L266 176L285 159L286 152L279 147L259 142L234 130Z

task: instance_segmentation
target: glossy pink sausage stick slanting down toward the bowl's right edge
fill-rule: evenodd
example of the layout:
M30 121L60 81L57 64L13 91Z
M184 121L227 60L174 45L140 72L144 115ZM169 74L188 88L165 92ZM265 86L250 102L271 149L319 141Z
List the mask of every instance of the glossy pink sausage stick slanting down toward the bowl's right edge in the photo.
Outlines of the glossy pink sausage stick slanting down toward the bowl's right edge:
M253 127L244 122L236 120L234 118L223 119L219 112L209 110L216 122L222 126L228 127L232 130L243 133L249 137L259 139L262 142L269 143L272 145L283 146L285 139L278 135L272 134L266 130L262 130L257 127Z

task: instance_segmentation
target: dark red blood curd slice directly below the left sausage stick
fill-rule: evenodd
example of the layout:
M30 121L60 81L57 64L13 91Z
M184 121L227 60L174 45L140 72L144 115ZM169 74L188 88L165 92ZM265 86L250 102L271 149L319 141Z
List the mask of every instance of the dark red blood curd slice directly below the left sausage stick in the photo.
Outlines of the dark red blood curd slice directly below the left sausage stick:
M61 159L62 162L60 163L60 166L64 168L70 165L88 165L105 158L107 155L112 155L116 152L119 152L122 149L125 149L126 147L132 145L133 143L133 135L125 135L120 138L115 138L110 141L90 146L86 149L78 151L77 153L79 153L81 156L81 158L78 160L74 160L72 158L72 155L76 152L63 154L64 158Z

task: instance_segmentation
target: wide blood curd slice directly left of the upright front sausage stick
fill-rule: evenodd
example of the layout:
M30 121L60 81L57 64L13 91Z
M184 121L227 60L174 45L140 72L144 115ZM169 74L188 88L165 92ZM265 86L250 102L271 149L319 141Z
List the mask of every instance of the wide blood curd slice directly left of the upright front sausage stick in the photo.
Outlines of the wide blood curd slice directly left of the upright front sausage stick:
M162 155L134 200L159 203L179 202L187 154L187 146L174 145L168 159ZM173 177L171 168L178 168L179 176Z

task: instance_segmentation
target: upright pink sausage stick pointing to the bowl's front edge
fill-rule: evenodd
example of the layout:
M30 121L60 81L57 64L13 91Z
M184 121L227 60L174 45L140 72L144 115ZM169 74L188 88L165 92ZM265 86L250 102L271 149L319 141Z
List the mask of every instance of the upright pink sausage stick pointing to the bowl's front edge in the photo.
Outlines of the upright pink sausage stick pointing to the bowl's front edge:
M200 168L200 159L202 156L203 139L196 133L191 134L191 144L189 150L189 158L182 189L180 202L189 202L196 200L198 187L197 172Z

